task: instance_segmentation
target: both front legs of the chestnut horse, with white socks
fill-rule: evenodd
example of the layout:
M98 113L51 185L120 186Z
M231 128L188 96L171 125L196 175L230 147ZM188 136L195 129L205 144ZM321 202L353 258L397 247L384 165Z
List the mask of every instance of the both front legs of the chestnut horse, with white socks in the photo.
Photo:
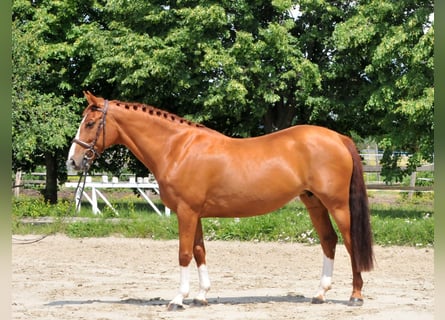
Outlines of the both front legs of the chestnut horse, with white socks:
M184 299L188 297L190 292L190 262L193 255L198 265L200 282L199 294L196 299L194 299L195 305L207 304L205 296L210 288L210 281L205 264L202 226L198 214L192 211L184 212L178 210L178 225L180 285L178 295L168 304L168 310L184 309Z

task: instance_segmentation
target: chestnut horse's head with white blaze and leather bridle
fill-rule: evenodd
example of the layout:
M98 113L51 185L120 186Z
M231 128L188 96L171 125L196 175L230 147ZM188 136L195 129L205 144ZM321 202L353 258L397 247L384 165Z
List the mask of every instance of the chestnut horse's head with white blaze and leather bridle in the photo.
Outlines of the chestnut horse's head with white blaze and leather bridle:
M71 145L67 166L75 170L88 169L107 144L105 134L108 101L95 97L90 92L84 92L88 107L83 112L83 120L77 130Z

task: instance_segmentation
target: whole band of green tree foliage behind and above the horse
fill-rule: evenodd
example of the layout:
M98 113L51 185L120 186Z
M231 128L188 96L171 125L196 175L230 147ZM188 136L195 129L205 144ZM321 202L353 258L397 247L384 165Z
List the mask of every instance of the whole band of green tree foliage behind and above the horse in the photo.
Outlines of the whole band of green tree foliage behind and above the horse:
M411 170L433 155L432 12L432 0L14 0L14 168L64 162L88 89L232 136L312 123L374 137L386 167L406 151ZM146 170L122 148L96 169L124 166Z

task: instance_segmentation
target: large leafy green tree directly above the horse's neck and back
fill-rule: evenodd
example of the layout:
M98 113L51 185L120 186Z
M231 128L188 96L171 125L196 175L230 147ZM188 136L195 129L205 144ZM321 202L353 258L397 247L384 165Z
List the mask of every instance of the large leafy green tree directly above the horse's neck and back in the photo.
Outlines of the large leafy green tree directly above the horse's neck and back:
M100 8L110 18L105 25L79 33L78 41L94 48L85 84L231 135L288 127L320 83L290 33L290 5L109 1Z

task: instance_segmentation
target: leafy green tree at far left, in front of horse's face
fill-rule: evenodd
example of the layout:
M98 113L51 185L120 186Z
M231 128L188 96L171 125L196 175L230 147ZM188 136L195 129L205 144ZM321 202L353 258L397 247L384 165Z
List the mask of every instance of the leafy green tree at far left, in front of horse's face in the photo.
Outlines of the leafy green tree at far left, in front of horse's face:
M79 122L79 62L68 41L71 25L62 22L85 3L13 1L13 170L44 165L50 203L57 202L58 179L66 178L67 141Z

